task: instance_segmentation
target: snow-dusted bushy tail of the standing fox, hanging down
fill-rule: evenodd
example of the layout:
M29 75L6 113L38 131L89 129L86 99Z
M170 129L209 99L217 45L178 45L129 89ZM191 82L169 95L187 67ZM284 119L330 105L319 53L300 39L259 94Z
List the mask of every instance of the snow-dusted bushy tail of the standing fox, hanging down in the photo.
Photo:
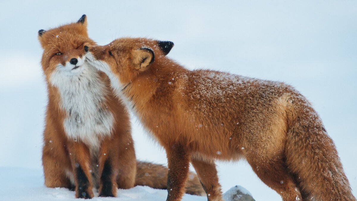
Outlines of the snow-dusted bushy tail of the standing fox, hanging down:
M294 108L287 133L286 164L295 174L303 200L353 201L335 144L317 113L304 100Z

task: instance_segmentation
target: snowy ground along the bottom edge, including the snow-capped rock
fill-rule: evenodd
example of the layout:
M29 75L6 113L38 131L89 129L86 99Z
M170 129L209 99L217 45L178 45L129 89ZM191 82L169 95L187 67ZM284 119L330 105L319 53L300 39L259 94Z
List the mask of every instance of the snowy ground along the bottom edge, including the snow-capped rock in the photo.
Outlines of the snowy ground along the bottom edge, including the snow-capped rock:
M44 179L41 170L33 170L29 168L4 168L0 167L0 185L1 194L0 200L12 201L71 201L75 200L75 192L67 188L46 188L43 185ZM166 190L153 189L148 186L136 186L131 189L117 190L117 197L98 197L96 189L94 190L95 197L93 201L105 200L123 200L123 201L157 201L165 200L167 197ZM232 196L246 196L251 193L241 186L234 186L227 192L223 193L223 198L226 201L233 201ZM0 191L0 192L1 192ZM205 201L206 196L196 196L185 194L182 201Z

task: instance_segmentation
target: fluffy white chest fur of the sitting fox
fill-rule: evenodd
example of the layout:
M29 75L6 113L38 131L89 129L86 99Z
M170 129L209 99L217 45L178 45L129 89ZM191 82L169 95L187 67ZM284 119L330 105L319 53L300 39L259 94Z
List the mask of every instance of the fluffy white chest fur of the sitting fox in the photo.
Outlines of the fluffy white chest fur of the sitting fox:
M58 69L51 74L50 82L58 89L60 106L67 113L63 123L67 136L99 147L114 123L105 99L108 89L95 68L86 63L80 68L75 74Z

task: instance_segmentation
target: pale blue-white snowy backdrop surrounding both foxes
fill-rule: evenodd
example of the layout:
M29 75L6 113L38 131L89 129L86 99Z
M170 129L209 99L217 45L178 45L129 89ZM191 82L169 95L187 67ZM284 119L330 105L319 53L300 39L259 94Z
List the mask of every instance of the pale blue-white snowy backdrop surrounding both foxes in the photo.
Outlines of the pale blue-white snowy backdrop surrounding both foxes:
M82 14L88 17L90 37L99 44L121 36L170 40L175 46L168 56L187 68L295 86L320 114L356 195L356 1L36 0L0 1L0 200L74 197L71 191L42 185L46 88L37 31L76 21ZM137 158L165 164L164 151L139 122L134 119L132 127ZM280 200L246 162L217 164L223 192L241 185L257 201ZM165 193L136 187L120 198L165 200Z

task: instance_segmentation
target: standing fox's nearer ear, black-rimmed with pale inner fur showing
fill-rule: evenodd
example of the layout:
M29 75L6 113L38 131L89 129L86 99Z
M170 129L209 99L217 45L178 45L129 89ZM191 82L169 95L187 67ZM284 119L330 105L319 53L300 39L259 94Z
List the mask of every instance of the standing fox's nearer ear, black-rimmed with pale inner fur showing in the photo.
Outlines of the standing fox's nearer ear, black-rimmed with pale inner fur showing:
M155 60L154 51L152 51L150 48L134 50L132 56L135 69L140 71L146 70L147 66Z

